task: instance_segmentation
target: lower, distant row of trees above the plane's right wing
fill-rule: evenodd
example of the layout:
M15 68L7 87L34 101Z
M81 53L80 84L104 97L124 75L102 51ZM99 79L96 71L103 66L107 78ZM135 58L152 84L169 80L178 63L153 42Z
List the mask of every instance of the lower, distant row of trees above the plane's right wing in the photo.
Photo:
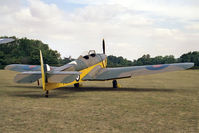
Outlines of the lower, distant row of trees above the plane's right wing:
M156 64L171 64L182 62L194 62L194 68L199 68L199 51L188 52L175 58L173 55L151 57L149 54L143 55L137 60L127 60L123 57L108 56L109 67L122 66L141 66L141 65L156 65Z

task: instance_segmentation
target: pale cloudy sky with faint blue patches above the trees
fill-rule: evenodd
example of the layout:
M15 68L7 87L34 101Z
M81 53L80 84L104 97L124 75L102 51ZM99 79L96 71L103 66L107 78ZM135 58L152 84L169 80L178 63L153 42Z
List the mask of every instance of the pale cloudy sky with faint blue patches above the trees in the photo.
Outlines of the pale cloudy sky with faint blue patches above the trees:
M0 0L0 36L39 39L62 57L137 59L199 51L199 0Z

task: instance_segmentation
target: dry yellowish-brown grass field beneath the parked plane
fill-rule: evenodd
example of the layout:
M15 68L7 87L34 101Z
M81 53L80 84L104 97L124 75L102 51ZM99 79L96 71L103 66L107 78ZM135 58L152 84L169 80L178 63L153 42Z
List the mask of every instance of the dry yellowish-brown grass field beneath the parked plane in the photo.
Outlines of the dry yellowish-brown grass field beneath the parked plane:
M199 71L187 70L50 91L0 71L0 132L199 132Z

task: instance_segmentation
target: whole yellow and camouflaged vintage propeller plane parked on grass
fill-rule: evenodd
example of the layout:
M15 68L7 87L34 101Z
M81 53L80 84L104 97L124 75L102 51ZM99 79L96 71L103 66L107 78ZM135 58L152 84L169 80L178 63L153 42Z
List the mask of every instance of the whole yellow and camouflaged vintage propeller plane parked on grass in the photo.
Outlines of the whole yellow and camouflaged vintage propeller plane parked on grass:
M16 75L17 83L33 83L42 79L45 96L49 90L74 85L79 87L83 81L112 80L113 88L117 88L117 79L130 78L139 75L147 75L161 72L185 70L194 66L194 63L175 63L145 66L130 66L106 68L107 56L105 55L105 41L102 42L103 53L90 50L87 54L61 67L51 67L44 64L40 50L41 65L11 64L5 67L7 70L21 72Z

